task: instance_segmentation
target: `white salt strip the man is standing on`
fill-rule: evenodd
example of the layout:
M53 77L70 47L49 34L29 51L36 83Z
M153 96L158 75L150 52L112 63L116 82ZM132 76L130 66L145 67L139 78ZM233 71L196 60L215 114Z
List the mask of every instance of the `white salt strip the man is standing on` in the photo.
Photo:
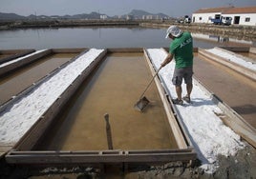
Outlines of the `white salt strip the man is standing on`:
M149 56L156 69L167 56L166 51L161 49L148 49ZM164 84L172 98L176 98L176 91L171 79L175 68L175 62L171 62L159 72ZM195 79L194 79L195 80ZM203 89L193 83L191 94L192 104L177 106L181 113L181 121L188 130L190 140L197 150L198 157L202 161L205 171L213 172L218 167L217 156L234 155L238 149L244 148L240 136L232 129L226 127L223 121L216 115L222 114ZM185 86L182 84L183 93L186 94Z

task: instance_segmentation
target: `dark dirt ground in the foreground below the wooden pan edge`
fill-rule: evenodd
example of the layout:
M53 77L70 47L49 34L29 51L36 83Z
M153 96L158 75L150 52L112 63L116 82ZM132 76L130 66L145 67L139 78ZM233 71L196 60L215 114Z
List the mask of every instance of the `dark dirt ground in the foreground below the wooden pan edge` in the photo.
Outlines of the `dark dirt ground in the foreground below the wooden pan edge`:
M200 161L194 165L188 165L181 162L168 163L162 166L143 166L129 169L123 172L120 168L106 169L102 172L100 169L75 167L72 169L11 169L1 164L1 179L155 179L155 178L202 178L202 179L256 179L256 149L246 144L245 149L241 149L235 156L219 156L219 168L214 173L204 172L199 166Z

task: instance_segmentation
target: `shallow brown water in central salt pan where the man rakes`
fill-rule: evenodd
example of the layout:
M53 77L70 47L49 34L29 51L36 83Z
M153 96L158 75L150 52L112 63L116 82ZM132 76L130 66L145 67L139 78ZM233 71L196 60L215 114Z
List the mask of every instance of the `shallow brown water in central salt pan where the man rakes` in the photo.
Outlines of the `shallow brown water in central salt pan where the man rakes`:
M177 149L154 84L146 92L150 105L134 109L152 75L142 53L109 54L70 100L36 149L109 149L106 121L113 149Z

